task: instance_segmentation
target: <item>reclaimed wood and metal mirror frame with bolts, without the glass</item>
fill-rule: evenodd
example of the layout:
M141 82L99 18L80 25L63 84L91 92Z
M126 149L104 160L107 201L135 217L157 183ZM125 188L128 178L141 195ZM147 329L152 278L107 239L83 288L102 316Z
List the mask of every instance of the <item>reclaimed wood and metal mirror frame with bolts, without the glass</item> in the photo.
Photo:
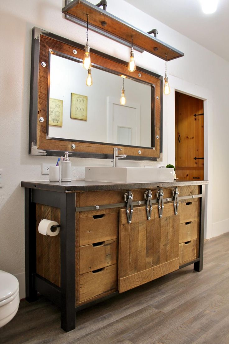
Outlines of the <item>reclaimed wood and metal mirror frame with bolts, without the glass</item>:
M83 45L33 28L29 154L59 156L68 151L71 157L113 159L113 147L118 147L122 148L122 154L126 154L128 160L162 161L162 76L139 67L135 72L129 72L128 62L94 49L90 49L92 66L152 86L151 148L48 136L50 53L76 60L74 49L77 50L77 59L82 60Z

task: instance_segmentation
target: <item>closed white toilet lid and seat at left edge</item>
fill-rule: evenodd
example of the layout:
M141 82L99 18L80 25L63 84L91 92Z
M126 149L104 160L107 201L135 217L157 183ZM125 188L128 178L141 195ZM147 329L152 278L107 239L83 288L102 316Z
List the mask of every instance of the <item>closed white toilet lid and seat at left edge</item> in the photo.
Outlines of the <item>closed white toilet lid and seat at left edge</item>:
M0 301L9 298L18 289L19 283L15 276L0 270Z

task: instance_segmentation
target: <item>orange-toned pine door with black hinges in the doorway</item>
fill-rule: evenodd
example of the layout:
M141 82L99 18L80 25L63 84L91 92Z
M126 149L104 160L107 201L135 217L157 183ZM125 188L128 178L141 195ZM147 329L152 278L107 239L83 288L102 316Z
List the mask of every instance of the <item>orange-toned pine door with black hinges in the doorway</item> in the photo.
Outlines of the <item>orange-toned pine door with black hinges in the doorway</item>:
M176 177L204 179L204 102L175 92Z

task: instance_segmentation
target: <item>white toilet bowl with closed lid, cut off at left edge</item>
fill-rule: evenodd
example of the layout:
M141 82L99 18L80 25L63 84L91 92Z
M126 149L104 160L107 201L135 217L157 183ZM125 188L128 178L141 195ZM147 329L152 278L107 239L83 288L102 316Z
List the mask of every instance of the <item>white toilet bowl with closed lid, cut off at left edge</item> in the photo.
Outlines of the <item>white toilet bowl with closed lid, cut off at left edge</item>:
M0 327L13 319L19 302L18 280L10 273L0 270Z

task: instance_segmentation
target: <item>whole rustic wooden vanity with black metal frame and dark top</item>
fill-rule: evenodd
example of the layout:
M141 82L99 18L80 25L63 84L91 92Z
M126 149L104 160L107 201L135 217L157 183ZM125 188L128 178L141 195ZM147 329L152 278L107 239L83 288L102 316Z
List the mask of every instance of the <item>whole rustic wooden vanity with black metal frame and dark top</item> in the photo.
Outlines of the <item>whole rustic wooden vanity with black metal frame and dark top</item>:
M22 182L26 299L48 297L70 331L76 309L189 264L201 271L207 183ZM38 233L42 219L60 233Z

